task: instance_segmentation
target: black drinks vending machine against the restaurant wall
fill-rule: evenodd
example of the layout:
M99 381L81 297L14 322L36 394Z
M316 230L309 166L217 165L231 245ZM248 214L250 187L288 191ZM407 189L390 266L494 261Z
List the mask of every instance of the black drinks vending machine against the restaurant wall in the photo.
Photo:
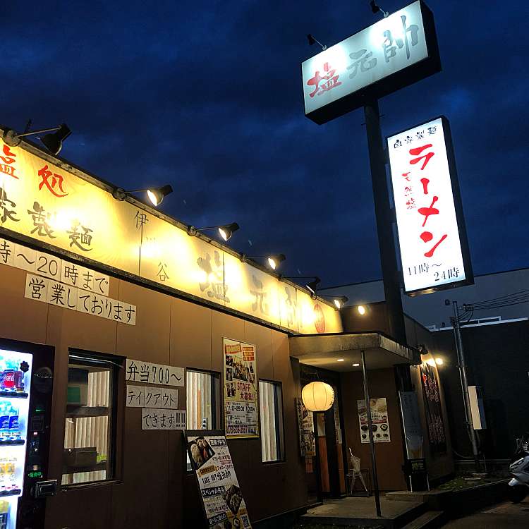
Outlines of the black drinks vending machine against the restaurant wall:
M0 529L44 527L54 348L0 339Z

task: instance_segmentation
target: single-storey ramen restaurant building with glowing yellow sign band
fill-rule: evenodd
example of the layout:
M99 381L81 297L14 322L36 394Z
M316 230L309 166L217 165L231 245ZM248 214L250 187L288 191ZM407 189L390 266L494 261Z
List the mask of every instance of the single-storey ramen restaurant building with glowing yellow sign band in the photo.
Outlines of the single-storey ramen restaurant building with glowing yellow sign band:
M427 329L408 320L408 343L397 343L383 305L367 328L354 308L336 310L31 142L0 150L0 399L26 434L13 447L16 436L0 431L18 483L1 489L7 527L16 516L49 529L206 526L186 427L225 430L253 525L346 494L348 450L370 468L362 353L381 490L409 486L405 454L425 459L430 480L451 473L437 370L417 348L430 347ZM228 362L233 351L245 361ZM21 355L32 355L32 376L8 387ZM394 365L411 365L414 438L403 433ZM335 399L311 434L298 415L315 380Z

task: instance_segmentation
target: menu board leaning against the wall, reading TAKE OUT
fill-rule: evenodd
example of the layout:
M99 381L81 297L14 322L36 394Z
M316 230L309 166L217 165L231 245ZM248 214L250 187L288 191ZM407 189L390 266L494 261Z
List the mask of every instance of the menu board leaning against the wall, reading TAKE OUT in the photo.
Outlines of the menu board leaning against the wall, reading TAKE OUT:
M185 435L209 529L251 529L224 434L220 430L186 430Z

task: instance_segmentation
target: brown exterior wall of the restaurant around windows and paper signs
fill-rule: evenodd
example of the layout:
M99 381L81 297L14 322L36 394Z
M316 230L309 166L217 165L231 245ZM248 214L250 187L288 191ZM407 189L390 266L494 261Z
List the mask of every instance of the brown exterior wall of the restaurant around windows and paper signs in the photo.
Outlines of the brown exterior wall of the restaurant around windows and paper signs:
M283 389L284 463L263 464L260 439L229 441L250 518L256 521L305 504L294 407L299 374L289 358L286 334L120 279L111 278L109 296L137 306L135 327L26 299L24 286L23 270L0 265L0 336L56 348L49 478L61 481L68 348L221 372L226 336L255 343L258 376L281 382ZM183 388L178 391L183 407L186 393ZM120 398L124 406L124 391ZM195 478L185 470L181 432L142 431L140 408L125 408L123 437L122 482L80 487L49 498L47 529L179 528L203 523Z

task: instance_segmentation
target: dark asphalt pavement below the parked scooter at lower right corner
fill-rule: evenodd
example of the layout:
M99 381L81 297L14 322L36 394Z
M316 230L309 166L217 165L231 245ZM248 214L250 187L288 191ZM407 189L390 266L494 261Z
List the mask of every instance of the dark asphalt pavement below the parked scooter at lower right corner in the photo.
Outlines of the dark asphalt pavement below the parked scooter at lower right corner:
M529 498L519 504L505 501L470 516L452 520L443 527L449 529L528 529Z

